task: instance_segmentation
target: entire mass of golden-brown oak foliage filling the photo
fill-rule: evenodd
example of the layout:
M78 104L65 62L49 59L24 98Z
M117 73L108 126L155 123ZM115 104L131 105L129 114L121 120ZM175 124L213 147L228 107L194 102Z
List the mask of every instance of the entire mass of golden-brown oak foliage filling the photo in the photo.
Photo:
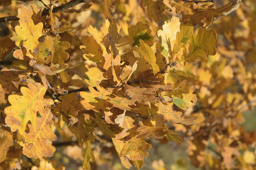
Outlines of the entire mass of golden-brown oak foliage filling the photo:
M111 162L111 153L139 169L151 138L182 143L177 131L197 167L253 168L255 133L237 123L256 100L255 8L238 8L240 1L62 0L45 10L41 2L14 3L0 2L9 9L3 15L18 11L0 38L0 168L64 169L46 158L58 140L80 146L82 169ZM71 3L80 4L56 10ZM224 35L219 44L216 31Z

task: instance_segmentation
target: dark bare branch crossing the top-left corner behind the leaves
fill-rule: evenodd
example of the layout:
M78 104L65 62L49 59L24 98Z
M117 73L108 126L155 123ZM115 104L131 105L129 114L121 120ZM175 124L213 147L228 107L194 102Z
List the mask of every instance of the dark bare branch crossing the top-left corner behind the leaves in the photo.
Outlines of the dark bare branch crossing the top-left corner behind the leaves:
M88 3L88 2L89 2L89 0L73 0L73 1L70 1L68 3L65 3L64 5L53 8L52 12L57 13L57 12L60 12L60 11L67 10L68 8L71 8L73 6L79 5L80 3ZM44 15L48 15L48 14L49 14L49 10L47 8L45 8L41 15L44 16ZM15 15L2 17L2 18L0 18L0 23L10 22L10 21L13 21L13 20L19 20L19 18L16 17Z

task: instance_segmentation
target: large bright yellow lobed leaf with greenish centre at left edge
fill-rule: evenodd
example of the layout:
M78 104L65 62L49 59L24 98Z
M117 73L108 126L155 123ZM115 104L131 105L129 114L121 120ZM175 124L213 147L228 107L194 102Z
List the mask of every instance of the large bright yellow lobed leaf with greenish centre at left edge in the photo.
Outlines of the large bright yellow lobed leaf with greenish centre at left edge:
M24 133L28 121L31 121L31 127L36 130L36 114L44 114L44 107L53 104L52 99L44 99L46 88L40 83L28 83L27 87L21 87L20 91L23 96L9 95L8 100L10 107L5 108L6 124L11 131L19 130L20 134Z

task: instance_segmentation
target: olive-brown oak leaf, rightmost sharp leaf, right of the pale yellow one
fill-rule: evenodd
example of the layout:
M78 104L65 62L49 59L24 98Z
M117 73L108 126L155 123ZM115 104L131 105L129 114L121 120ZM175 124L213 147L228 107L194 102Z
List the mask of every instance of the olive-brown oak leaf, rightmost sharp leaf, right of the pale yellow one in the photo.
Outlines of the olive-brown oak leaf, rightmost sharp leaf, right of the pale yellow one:
M194 62L195 59L200 59L200 61L208 62L207 56L213 56L217 52L215 47L217 43L217 33L213 29L207 31L206 28L200 27L197 36L193 35L185 61Z

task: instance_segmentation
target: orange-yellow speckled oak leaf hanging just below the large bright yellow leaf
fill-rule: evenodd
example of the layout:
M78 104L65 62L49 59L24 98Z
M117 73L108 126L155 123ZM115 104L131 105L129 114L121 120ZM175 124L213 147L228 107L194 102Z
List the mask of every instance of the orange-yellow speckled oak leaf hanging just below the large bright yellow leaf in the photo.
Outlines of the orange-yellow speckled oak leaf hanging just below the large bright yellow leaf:
M52 132L50 124L52 121L53 114L51 110L47 108L42 117L36 117L36 128L33 128L31 124L28 125L30 128L29 133L24 133L24 143L20 142L22 146L23 154L28 158L39 158L43 160L43 156L51 157L55 152L55 147L51 145L51 141L57 140L56 135ZM35 130L34 130L35 129Z

